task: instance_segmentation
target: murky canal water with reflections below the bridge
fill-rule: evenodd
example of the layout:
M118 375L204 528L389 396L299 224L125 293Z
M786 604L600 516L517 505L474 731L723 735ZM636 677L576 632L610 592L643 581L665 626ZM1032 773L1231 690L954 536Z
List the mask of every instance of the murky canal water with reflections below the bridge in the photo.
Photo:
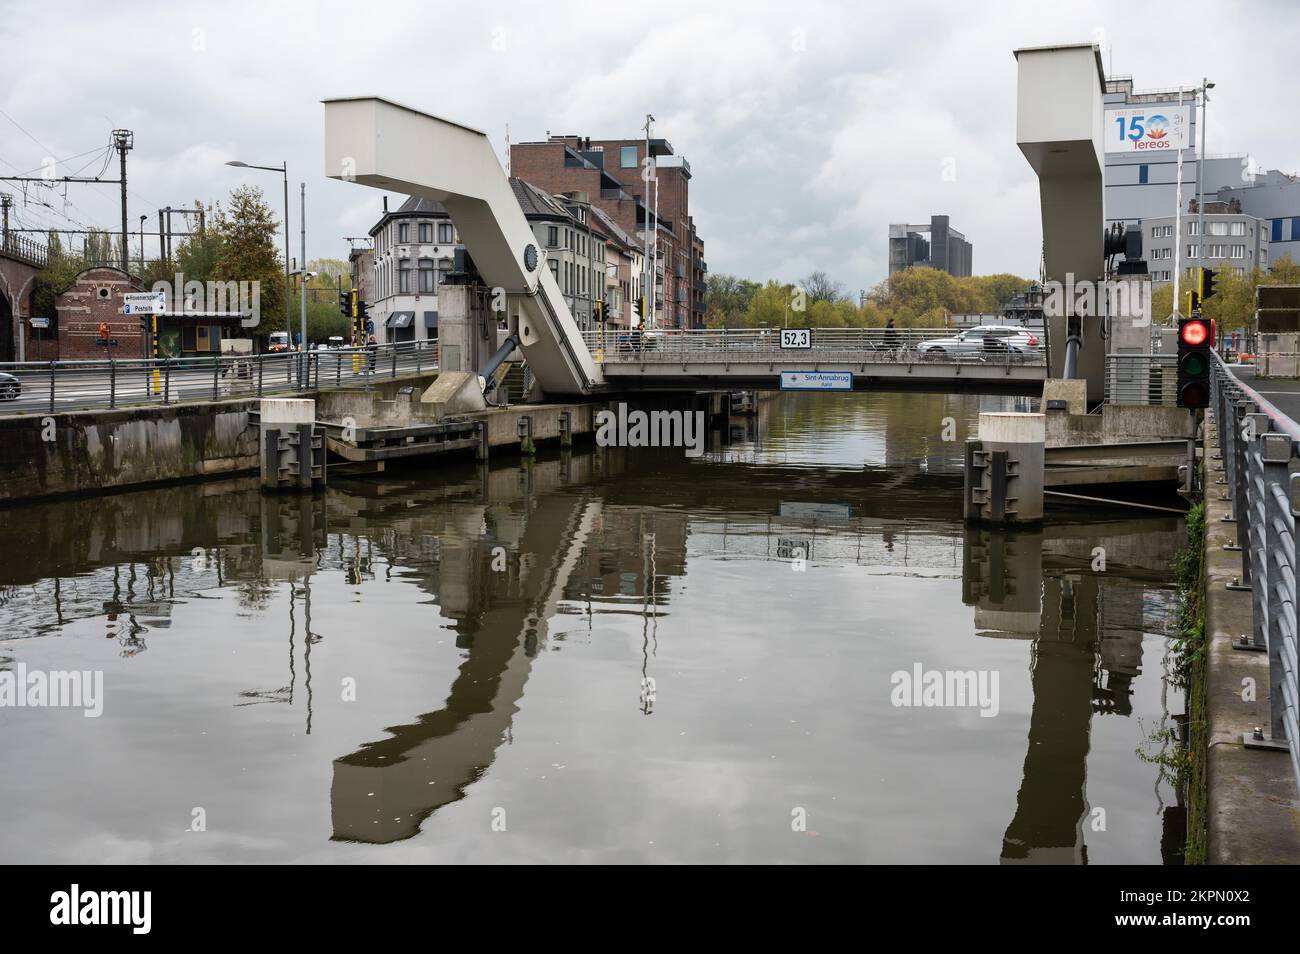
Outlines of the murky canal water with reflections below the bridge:
M0 511L0 667L103 678L0 862L1160 863L1182 521L965 528L979 409Z

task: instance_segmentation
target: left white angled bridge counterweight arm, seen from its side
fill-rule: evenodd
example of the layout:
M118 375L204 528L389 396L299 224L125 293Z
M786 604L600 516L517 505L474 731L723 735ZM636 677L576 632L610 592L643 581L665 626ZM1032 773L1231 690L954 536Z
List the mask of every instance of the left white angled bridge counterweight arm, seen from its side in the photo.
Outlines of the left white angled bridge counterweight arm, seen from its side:
M325 174L441 201L484 282L517 296L520 347L542 391L603 383L484 133L374 96L325 100Z

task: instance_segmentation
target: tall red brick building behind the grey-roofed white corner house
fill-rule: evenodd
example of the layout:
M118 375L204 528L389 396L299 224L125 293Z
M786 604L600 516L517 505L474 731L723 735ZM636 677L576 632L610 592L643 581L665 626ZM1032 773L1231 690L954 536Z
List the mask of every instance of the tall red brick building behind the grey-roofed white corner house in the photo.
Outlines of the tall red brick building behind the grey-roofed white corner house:
M707 265L703 239L690 217L690 164L673 155L666 139L651 139L649 146L656 170L650 182L642 178L645 139L552 135L546 142L515 143L510 172L551 195L586 192L593 205L641 242L655 222L658 186L660 321L667 328L698 328L705 317Z

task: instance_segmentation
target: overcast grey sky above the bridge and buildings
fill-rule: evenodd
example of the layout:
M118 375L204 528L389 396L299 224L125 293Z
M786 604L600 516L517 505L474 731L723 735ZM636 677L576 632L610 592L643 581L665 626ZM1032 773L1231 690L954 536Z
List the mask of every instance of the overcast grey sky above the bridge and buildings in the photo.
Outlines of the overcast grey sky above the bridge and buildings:
M0 0L0 169L94 174L131 129L130 221L307 182L308 256L343 257L381 192L322 174L329 96L380 95L485 130L504 159L550 133L655 134L686 156L712 272L846 290L887 270L887 226L948 213L975 272L1037 273L1037 185L1015 148L1022 45L1096 42L1139 90L1217 83L1209 152L1300 170L1288 3L49 3ZM329 10L328 13L325 10ZM944 177L945 161L956 175ZM108 175L116 174L109 170ZM116 186L32 192L25 225L118 229ZM72 221L70 221L72 220ZM75 224L74 224L75 222ZM150 253L156 248L147 246Z

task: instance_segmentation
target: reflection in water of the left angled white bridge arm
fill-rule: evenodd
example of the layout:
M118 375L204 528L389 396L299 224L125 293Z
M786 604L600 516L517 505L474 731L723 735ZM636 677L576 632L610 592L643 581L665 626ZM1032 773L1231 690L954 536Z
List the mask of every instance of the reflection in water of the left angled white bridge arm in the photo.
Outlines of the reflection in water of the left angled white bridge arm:
M463 798L510 736L538 646L601 519L604 455L478 471L441 535L438 593L467 650L442 706L334 760L333 840L387 844ZM454 494L452 494L454 495ZM486 533L485 533L486 530ZM493 569L494 561L503 571Z

